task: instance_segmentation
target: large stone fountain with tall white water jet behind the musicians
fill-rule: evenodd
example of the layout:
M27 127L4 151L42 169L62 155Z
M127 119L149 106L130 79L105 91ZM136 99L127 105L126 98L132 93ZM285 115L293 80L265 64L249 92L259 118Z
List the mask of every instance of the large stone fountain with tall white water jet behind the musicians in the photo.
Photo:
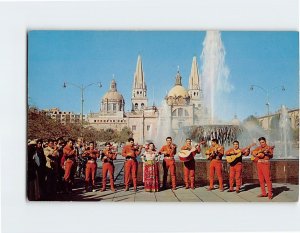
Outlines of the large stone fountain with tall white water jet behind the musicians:
M225 147L225 151L232 147L232 142L238 140L240 147L246 147L251 143L256 143L258 138L264 136L269 145L275 145L274 159L271 160L271 176L275 182L299 182L299 155L297 149L292 147L290 122L287 109L282 106L280 118L278 117L277 126L271 131L273 134L266 132L258 121L247 121L244 124L236 124L233 122L223 122L222 113L226 112L225 108L230 104L226 102L226 93L233 90L230 84L229 69L225 64L225 48L221 40L221 34L218 31L208 31L203 42L203 51L201 54L202 61L202 86L203 107L206 111L193 111L193 124L189 121L189 115L185 119L180 119L180 126L172 128L172 104L175 103L175 110L180 106L189 106L188 97L184 97L186 102L181 102L176 106L176 102L166 99L159 108L159 118L157 123L157 131L153 135L155 145L160 148L165 143L165 138L171 136L174 143L180 148L186 138L191 138L193 143L206 141L206 146L202 146L202 152L196 158L196 170L201 171L196 174L196 183L207 185L208 183L208 167L209 162L206 160L204 151L210 145L211 139L218 139L220 144ZM178 77L179 77L178 72ZM179 79L178 79L179 80ZM181 80L177 82L180 84ZM180 96L173 96L177 101ZM181 96L182 98L182 96ZM172 99L171 99L172 100ZM168 105L169 101L169 105ZM171 102L171 103L170 103ZM178 107L179 106L179 107ZM183 115L180 115L183 117ZM183 117L184 118L184 117ZM195 123L196 122L196 123ZM274 120L275 122L275 120ZM176 159L176 158L175 158ZM176 159L177 160L177 159ZM223 160L224 180L228 177L228 163ZM250 156L243 161L243 182L258 182L256 166L250 160ZM183 183L182 164L176 161L177 183ZM162 171L161 171L162 172Z

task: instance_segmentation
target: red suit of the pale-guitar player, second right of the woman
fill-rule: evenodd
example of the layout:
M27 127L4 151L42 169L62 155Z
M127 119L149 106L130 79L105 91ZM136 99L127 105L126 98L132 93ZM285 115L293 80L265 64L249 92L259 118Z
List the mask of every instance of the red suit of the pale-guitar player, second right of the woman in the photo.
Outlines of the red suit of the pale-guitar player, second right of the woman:
M191 150L191 146L183 146L181 147L181 150ZM196 154L199 154L201 152L200 146L197 147L197 149L193 152L191 152L193 158L190 161L183 162L183 173L184 173L184 183L185 187L189 188L189 178L191 182L191 188L195 188L195 159L194 157Z

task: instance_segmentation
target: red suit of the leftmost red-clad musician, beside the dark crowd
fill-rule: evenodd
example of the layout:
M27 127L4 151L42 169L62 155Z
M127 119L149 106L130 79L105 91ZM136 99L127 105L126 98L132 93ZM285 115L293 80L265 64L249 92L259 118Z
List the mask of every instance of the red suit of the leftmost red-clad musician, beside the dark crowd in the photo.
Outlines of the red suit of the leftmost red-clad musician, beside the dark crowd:
M66 145L63 149L61 164L65 169L64 180L68 183L73 182L76 171L76 150Z

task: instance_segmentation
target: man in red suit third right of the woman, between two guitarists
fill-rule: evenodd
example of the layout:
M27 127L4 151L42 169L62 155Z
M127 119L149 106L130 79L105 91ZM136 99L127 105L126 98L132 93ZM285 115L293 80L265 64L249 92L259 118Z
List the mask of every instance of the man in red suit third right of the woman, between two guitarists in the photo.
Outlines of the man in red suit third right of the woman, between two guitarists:
M208 191L214 189L214 175L216 170L219 180L219 190L223 192L222 157L224 155L224 147L218 143L218 139L211 140L211 147L205 152L207 159L210 160Z

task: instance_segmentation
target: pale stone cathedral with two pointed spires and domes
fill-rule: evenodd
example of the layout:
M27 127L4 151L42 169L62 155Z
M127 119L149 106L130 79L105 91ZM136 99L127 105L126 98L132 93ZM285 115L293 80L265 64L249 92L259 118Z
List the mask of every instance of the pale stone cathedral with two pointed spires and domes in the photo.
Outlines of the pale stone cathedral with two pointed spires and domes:
M149 106L142 58L139 55L133 77L131 111L125 112L125 101L113 79L110 89L100 102L100 111L90 113L88 122L96 129L122 130L130 128L137 143L153 140L161 131L176 135L186 126L208 123L208 110L204 106L201 79L196 57L192 60L188 89L182 86L179 70L174 86L165 96L163 106Z

